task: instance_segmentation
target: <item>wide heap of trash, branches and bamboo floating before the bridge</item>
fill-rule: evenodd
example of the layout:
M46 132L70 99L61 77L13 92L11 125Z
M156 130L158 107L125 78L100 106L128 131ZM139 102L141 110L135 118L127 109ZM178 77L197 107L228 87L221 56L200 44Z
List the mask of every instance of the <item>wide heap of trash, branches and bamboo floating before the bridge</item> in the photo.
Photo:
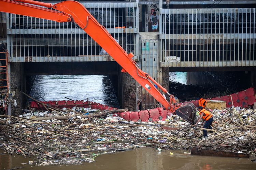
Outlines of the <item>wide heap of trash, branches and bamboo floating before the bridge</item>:
M192 126L176 115L158 122L113 116L124 111L74 107L52 112L27 109L18 117L1 116L0 147L6 150L3 153L36 155L28 164L38 166L90 163L101 154L141 147L160 152L199 147L256 157L256 109L214 110L208 139L203 138L200 124Z

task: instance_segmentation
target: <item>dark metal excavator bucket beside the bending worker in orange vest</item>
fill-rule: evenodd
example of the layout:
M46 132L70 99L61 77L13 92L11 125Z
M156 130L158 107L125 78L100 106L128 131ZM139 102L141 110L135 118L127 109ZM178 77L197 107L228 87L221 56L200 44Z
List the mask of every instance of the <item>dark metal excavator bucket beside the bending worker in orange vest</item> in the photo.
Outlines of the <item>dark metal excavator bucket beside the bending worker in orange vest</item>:
M197 122L196 107L193 103L182 105L180 108L176 109L175 113L190 124L194 125Z

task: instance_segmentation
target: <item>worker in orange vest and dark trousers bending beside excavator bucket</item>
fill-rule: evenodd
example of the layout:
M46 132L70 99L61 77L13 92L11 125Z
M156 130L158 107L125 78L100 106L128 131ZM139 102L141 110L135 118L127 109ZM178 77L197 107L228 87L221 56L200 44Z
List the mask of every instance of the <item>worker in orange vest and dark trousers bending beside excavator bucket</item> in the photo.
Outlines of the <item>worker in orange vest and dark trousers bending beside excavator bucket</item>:
M203 118L203 122L205 121L203 128L212 130L212 122L213 122L212 114L206 109L204 109L202 106L198 107L198 111L199 111L200 117L195 125L197 125ZM211 133L213 133L213 131L211 131ZM203 130L203 137L207 139L207 130Z

